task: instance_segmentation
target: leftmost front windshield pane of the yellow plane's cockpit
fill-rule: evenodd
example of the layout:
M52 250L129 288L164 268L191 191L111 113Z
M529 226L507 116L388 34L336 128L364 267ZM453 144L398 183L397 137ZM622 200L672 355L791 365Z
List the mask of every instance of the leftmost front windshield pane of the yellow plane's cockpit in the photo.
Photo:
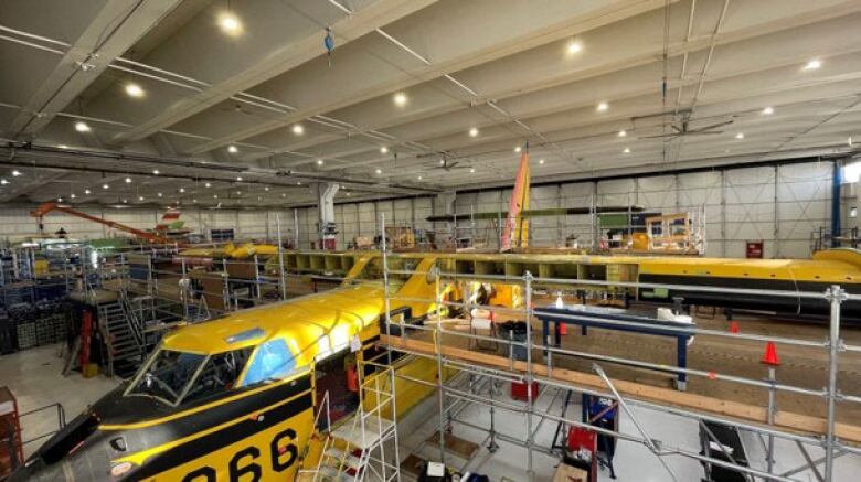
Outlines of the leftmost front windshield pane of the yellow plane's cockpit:
M205 356L171 350L160 350L155 356L128 394L151 396L174 405Z

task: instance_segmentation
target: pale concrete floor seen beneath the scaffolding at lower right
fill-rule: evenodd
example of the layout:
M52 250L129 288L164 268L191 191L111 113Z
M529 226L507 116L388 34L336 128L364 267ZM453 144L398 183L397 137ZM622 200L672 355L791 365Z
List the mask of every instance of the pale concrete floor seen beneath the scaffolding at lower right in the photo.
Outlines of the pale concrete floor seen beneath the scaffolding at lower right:
M502 394L499 400L512 403L508 396L508 386L503 384L501 388ZM535 406L539 409L551 407L550 411L552 414L560 415L563 399L564 396L557 390L552 388L545 389L540 395ZM697 421L651 409L631 408L635 417L637 417L637 420L647 433L652 438L661 440L667 449L679 448L690 452L700 451ZM572 404L568 407L567 415L576 419L580 417L580 404ZM459 411L456 418L488 428L490 426L490 409L482 405L469 404ZM500 433L521 440L527 435L525 415L497 409L495 424L497 431ZM533 427L539 427L539 424L541 424L541 418L534 416ZM404 417L401 417L398 420L401 457L405 458L410 453L415 453L427 460L439 460L439 446L425 441L428 437L437 433L438 425L439 416L436 396L428 397ZM535 443L549 447L552 443L555 429L556 424L554 421L545 420L535 432ZM625 415L620 418L619 430L623 433L639 436L634 422ZM449 465L460 470L469 470L472 473L488 475L491 481L496 482L520 482L527 480L527 451L522 446L498 439L499 450L496 453L490 453L487 449L487 431L455 421L451 426L451 432L461 439L478 443L480 448L472 460L464 460L447 452L446 462ZM742 440L747 451L751 467L765 470L765 451L759 439L751 432L742 432ZM810 448L809 452L812 459L818 459L822 456L821 450ZM775 472L777 473L805 464L804 456L795 442L777 439L775 442ZM670 456L666 457L665 460L678 482L699 481L703 476L703 469L694 459ZM552 480L557 463L559 460L555 457L534 453L533 468L535 480ZM621 441L617 444L614 467L617 482L667 482L673 480L660 460L645 446L637 442ZM835 482L858 480L858 473L861 473L861 457L843 456L836 459ZM817 480L810 470L795 474L793 478L794 480L805 482ZM406 476L405 480L411 480L411 478ZM608 470L602 469L598 472L599 482L610 482L612 480Z

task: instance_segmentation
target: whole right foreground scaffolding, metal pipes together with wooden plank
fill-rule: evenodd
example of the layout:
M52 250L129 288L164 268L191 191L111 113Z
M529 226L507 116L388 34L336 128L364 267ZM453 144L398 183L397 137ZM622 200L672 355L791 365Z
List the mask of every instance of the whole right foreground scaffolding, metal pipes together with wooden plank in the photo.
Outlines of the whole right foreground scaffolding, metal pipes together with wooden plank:
M382 227L385 226L384 216L381 216L380 223ZM861 352L861 346L847 345L840 335L841 303L846 300L861 299L861 297L847 293L847 291L843 290L840 286L831 286L825 292L730 288L724 289L698 286L669 286L621 281L608 282L586 279L571 280L536 278L529 271L525 271L523 276L520 277L478 274L464 275L458 272L444 272L440 270L439 266L434 267L428 272L418 274L416 271L390 269L390 263L396 260L398 257L400 256L397 254L393 254L386 249L385 245L382 246L386 323L385 335L381 336L381 344L387 347L390 353L392 351L401 352L417 357L426 357L436 362L437 377L435 384L413 378L403 374L396 374L396 376L412 383L424 384L426 386L433 386L436 388L437 408L439 416L439 461L444 463L446 461L444 437L446 431L446 424L464 424L471 426L471 428L480 429L488 433L490 439L490 447L492 447L496 439L503 439L503 436L498 433L495 429L495 413L498 410L513 414L523 414L527 416L527 437L524 439L514 440L510 436L504 436L504 439L524 448L527 460L525 475L530 481L534 480L535 473L533 467L533 453L555 453L552 447L539 446L535 442L534 436L536 429L533 427L533 418L539 420L539 425L543 424L545 420L550 420L551 422L564 424L567 427L578 427L597 432L599 435L610 436L616 440L641 443L651 453L658 457L658 460L660 460L660 462L666 468L668 476L677 481L679 478L673 473L672 469L666 461L666 458L668 457L685 457L698 460L704 465L709 464L710 467L720 467L734 470L741 474L744 474L745 479L747 480L762 479L768 481L799 481L800 479L794 479L793 475L806 470L811 470L819 480L830 482L835 480L833 470L836 458L842 457L844 454L861 454L861 448L855 447L855 443L861 442L861 439L859 439L858 432L852 430L857 429L857 427L846 426L839 430L838 425L836 424L838 404L861 403L861 396L858 394L843 393L838 386L840 354L843 352ZM391 276L413 275L433 277L435 280L434 299L398 297L394 289L390 289L389 279ZM463 281L483 281L489 283L517 285L523 290L524 302L522 308L512 309L502 308L499 306L480 304L472 301L469 297L464 297L463 301L448 300L444 298L443 294L447 283ZM688 367L671 367L640 360L613 357L600 354L566 350L561 346L553 346L549 343L551 333L535 333L536 329L532 326L532 321L535 320L538 315L546 314L542 313L542 309L533 307L533 292L536 290L536 288L549 286L572 291L600 291L604 293L619 289L682 288L684 291L689 292L720 292L725 294L748 297L769 296L821 300L822 302L829 303L830 306L828 338L823 341L733 333L702 329L693 325L690 328L667 328L667 330L676 330L679 334L684 334L688 336L721 336L732 340L748 340L759 343L773 342L778 345L791 345L811 350L823 350L828 360L826 372L827 376L825 379L826 387L822 389L811 389L802 386L778 383L774 376L769 376L768 379L762 381L744 376L723 374L718 369L705 371ZM435 307L435 312L428 315L424 323L419 324L407 323L403 320L403 318L400 317L396 321L393 321L394 315L392 314L392 307L397 307L406 302L428 303ZM457 309L464 313L470 313L475 309L480 309L496 313L504 313L511 317L520 317L520 319L527 321L525 338L522 341L518 341L513 339L482 335L476 333L472 330L469 332L463 332L447 329L446 323L444 323L444 311L448 309ZM562 321L564 321L566 318L564 313L561 314L559 312L554 312L552 314ZM582 317L584 315L577 314L577 318ZM588 317L586 315L586 318ZM607 321L596 319L595 321L602 321L604 323L609 323L617 326L636 326L636 322L624 320ZM556 325L559 325L559 323L556 323ZM517 349L523 350L525 351L525 361L515 362L512 357L504 358L501 356L487 355L478 351L469 350L469 346L472 342L477 343L479 341L493 342L507 346L509 353ZM536 354L539 355L536 356ZM543 355L543 361L540 360L541 355ZM572 372L555 366L555 358L564 356L592 361L594 375L581 372ZM635 366L638 368L648 368L665 373L670 372L676 375L683 374L687 377L705 377L708 379L718 379L755 387L768 393L769 401L766 407L755 407L751 405L730 403L733 405L733 407L743 407L746 409L746 411L733 413L733 410L721 411L709 409L708 407L697 407L693 404L685 405L684 403L679 403L677 399L671 400L670 397L655 395L659 393L658 390L656 390L651 396L634 396L634 390L631 390L630 387L645 385L610 378L607 376L604 369L604 367L608 365ZM597 427L588 422L567 417L564 413L561 416L553 414L551 413L552 405L549 406L548 409L540 409L535 405L535 397L531 389L527 389L527 400L522 404L500 400L493 396L492 389L489 390L489 394L463 389L457 386L457 377L446 382L446 378L443 376L444 368L454 368L459 373L468 374L470 383L475 381L487 381L491 384L498 382L515 382L525 383L528 387L532 387L533 384L538 384L541 387L539 393L542 394L546 393L548 390L574 390L582 394L612 399L618 404L618 407L621 409L620 413L624 414L637 428L637 433L631 435L621 432L619 430ZM668 389L662 388L660 389L660 393L663 394L666 390ZM775 406L776 393L789 393L798 396L817 397L821 399L822 404L826 405L825 419L777 410ZM698 397L698 399L710 398L704 396ZM457 408L463 404L478 404L488 407L490 409L489 426L480 427L465 420L458 420L455 414ZM722 460L711 457L708 451L703 454L693 449L676 447L672 443L662 441L656 438L656 435L647 432L642 425L638 422L635 413L631 410L633 406L647 409L657 409L663 413L690 418L695 420L699 425L703 425L705 422L724 424L755 433L761 438L761 440L768 440L768 443L764 442L767 453L765 461L766 467L763 469L747 467L745 464L736 463L732 457L730 457L729 460ZM842 438L838 437L839 435ZM713 433L711 433L711 437L713 437ZM773 464L775 439L784 439L796 443L805 454L806 463L796 469L785 471L783 473L777 473L774 470ZM807 450L805 450L809 447L820 448L823 450L825 456L820 459L812 460L812 458L809 457ZM819 471L820 464L823 465L821 473Z

